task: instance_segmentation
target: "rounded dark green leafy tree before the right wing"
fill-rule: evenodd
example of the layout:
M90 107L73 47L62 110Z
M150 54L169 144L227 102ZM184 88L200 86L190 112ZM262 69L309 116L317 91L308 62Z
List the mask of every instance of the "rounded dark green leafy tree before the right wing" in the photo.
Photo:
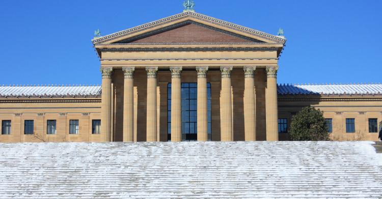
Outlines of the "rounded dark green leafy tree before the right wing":
M330 140L322 111L313 107L304 107L293 116L289 135L294 141Z

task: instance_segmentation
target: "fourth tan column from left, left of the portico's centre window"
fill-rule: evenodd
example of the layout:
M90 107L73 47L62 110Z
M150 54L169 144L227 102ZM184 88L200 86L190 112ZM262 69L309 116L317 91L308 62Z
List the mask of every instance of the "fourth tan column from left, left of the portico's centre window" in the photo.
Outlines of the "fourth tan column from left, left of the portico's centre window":
M171 70L171 141L182 141L182 111L180 97L180 76L182 67L170 67Z

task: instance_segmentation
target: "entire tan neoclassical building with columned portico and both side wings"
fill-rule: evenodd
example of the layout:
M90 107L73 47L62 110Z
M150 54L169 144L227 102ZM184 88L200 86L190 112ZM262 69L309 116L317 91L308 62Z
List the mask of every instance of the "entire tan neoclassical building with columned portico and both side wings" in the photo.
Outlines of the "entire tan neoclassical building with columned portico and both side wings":
M278 84L281 33L185 6L92 42L101 86L0 86L0 142L288 140L305 106L333 140L377 140L382 84Z

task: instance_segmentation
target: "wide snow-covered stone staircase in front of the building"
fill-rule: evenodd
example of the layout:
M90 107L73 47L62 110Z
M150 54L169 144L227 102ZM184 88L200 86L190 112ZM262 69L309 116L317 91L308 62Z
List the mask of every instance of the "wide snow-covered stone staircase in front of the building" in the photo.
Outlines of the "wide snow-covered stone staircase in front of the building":
M372 143L2 143L0 198L381 198Z

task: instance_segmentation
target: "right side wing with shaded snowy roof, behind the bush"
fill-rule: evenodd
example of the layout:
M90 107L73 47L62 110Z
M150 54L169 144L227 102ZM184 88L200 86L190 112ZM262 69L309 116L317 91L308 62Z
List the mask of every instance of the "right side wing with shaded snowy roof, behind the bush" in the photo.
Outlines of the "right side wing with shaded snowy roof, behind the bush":
M289 139L293 115L306 106L323 111L333 140L378 140L382 84L284 84L278 86L278 93L280 140Z

